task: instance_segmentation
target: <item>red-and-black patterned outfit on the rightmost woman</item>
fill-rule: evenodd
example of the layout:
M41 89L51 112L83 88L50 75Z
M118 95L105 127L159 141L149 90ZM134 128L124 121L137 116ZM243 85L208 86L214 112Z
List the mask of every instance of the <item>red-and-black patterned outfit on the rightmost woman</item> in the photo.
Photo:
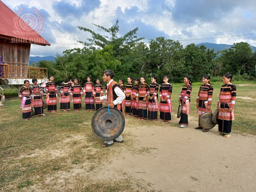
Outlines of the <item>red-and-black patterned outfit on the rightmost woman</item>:
M236 102L236 86L234 84L224 84L221 86L218 99L218 118L222 120L234 120L234 110L229 112L229 108L234 108Z

